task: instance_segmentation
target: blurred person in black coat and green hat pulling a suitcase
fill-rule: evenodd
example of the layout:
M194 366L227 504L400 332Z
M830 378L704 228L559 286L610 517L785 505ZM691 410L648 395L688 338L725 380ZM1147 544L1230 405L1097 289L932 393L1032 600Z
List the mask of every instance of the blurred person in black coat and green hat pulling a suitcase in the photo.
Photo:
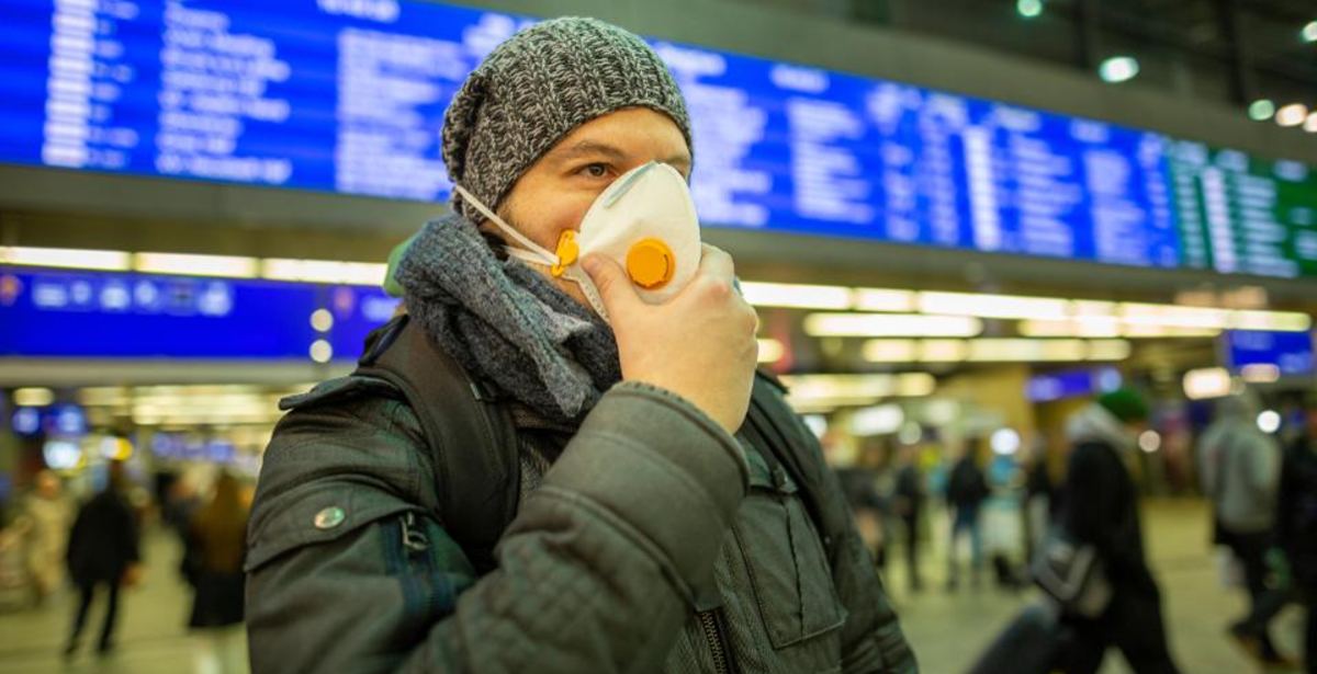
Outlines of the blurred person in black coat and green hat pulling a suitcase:
M1065 427L1072 450L1062 490L1060 521L1080 545L1096 548L1112 584L1106 611L1094 620L1067 617L1075 642L1067 674L1093 674L1106 649L1118 648L1135 674L1175 674L1162 595L1143 553L1138 492L1129 462L1148 419L1143 398L1129 388L1104 394Z

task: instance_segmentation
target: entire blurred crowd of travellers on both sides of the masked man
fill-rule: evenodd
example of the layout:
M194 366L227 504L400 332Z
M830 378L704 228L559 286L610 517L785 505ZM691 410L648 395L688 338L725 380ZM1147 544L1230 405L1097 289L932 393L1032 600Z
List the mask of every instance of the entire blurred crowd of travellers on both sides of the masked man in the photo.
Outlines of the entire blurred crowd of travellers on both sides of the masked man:
M1247 611L1222 629L1260 663L1312 673L1317 395L1274 430L1259 428L1259 409L1249 394L1220 400L1195 442L1197 488L1213 506L1212 544L1223 554L1223 584L1249 599ZM872 438L852 459L834 463L889 583L915 594L935 583L952 592L1042 587L1044 599L1006 627L975 671L1023 674L1022 653L1036 654L1044 667L1097 671L1104 653L1117 649L1138 673L1169 673L1179 669L1138 515L1139 496L1155 491L1155 471L1141 467L1147 455L1138 446L1148 421L1147 403L1121 390L1071 415L1062 454L1043 441L1002 442L990 430L955 441L930 430L917 442ZM835 459L830 436L823 445ZM176 570L190 588L186 627L198 641L196 669L245 670L234 653L242 640L250 484L216 469L133 479L120 462L90 474L90 482L66 483L41 471L11 502L0 519L0 609L58 611L51 599L66 591L70 600L59 604L71 609L66 656L78 657L84 641L97 653L112 652L120 592L142 582L141 532L157 527L176 541L176 557L151 567ZM1056 557L1058 540L1067 550L1094 550L1097 571ZM930 554L936 562L923 559ZM1089 575L1100 577L1097 608L1085 609L1084 598L1067 596L1065 587L1042 583L1040 559L1063 565L1059 578L1075 581L1080 594L1092 591ZM1297 640L1303 650L1287 653L1271 624L1291 606L1309 617Z

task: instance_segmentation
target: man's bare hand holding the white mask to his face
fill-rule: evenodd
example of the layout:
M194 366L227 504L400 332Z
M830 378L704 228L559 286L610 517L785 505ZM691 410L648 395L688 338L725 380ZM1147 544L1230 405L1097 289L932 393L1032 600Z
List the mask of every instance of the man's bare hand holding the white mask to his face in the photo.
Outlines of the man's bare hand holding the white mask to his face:
M731 255L705 245L695 278L662 304L645 303L616 262L582 263L608 309L622 378L666 388L735 433L759 362L759 317L734 287Z

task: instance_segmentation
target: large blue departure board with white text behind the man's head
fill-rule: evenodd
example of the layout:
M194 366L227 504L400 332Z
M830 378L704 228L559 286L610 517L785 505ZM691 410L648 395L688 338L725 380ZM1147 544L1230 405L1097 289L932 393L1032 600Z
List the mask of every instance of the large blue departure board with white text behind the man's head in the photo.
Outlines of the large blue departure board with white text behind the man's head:
M410 0L0 0L0 161L444 200L444 109L532 21ZM1241 174L1106 122L652 43L690 104L707 224L1317 274L1310 237L1254 244L1255 190L1233 186L1267 167ZM1281 171L1299 172L1277 183L1267 226L1310 226L1317 184L1303 165ZM1210 229L1218 182L1239 205L1229 237ZM1185 219L1198 186L1206 211Z

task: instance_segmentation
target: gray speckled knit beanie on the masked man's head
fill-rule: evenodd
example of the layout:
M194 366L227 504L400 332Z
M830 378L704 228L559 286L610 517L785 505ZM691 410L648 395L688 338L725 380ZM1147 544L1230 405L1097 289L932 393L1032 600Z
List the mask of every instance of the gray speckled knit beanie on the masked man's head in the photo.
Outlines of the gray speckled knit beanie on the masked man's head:
M536 24L495 47L453 96L444 115L448 176L498 209L564 136L630 107L668 115L691 146L681 90L640 37L595 18ZM453 208L483 220L456 192Z

